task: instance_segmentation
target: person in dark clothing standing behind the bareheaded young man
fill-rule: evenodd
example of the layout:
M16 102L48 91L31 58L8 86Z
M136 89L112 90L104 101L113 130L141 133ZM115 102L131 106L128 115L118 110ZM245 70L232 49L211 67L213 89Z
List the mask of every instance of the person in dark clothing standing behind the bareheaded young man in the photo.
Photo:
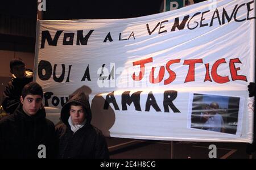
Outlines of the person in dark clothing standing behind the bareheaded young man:
M26 70L25 63L20 58L11 60L10 72L13 77L3 91L2 107L5 112L12 114L20 104L23 87L32 82L33 72Z

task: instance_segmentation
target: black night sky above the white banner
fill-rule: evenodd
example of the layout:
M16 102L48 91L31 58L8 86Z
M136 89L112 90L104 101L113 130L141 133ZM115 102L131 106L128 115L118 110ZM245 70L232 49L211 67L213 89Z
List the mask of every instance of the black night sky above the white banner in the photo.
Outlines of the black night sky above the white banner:
M133 18L156 14L163 0L46 0L44 19L107 19ZM194 0L195 3L203 0ZM205 1L205 0L204 0ZM36 17L37 0L2 1L0 14Z

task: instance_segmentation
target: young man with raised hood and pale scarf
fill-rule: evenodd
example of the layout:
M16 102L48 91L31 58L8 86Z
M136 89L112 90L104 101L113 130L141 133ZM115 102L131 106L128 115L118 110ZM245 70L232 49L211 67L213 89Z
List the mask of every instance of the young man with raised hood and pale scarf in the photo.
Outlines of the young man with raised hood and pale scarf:
M63 124L56 126L58 158L109 158L104 135L90 124L92 112L83 92L68 100L60 115Z

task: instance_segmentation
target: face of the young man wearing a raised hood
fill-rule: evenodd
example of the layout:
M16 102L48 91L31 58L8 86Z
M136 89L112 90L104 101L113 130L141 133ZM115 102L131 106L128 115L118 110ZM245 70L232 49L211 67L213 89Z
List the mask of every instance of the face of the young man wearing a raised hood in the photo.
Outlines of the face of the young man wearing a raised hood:
M78 106L71 105L69 114L71 116L73 124L75 125L82 124L82 122L85 120L84 109L82 108L81 105L78 105Z

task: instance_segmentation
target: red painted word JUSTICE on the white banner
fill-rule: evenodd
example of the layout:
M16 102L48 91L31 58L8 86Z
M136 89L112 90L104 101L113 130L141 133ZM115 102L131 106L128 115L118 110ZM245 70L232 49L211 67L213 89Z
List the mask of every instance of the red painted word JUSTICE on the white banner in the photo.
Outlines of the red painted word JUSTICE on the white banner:
M146 63L151 63L151 62L153 62L152 57L133 62L133 66L137 66L137 65L140 66L139 75L137 76L134 73L132 75L133 80L135 80L135 81L142 80L144 73L145 73L145 65L146 65ZM158 77L156 77L156 78L154 76L156 67L152 67L152 69L150 71L150 76L149 76L150 83L156 84L156 83L162 82L162 80L164 78L165 69L168 71L169 77L164 80L164 84L166 85L166 84L170 84L171 82L173 82L176 79L176 73L170 69L170 66L174 63L180 63L180 59L171 59L170 61L168 61L166 63L165 67L161 66L160 70L159 70ZM188 65L188 73L187 73L184 83L195 82L195 67L196 67L197 63L203 63L203 59L185 59L184 60L183 65ZM216 62L213 63L211 70L209 69L209 63L205 63L204 65L205 65L206 72L205 72L204 82L206 82L206 81L212 82L212 80L216 83L230 82L229 76L220 75L217 73L218 66L220 66L223 63L226 63L225 58L218 59ZM237 71L240 70L240 67L236 67L235 63L242 63L242 62L240 61L239 58L230 59L229 70L230 70L232 80L233 81L242 80L242 81L247 82L247 78L245 75L237 74ZM210 75L212 76L212 78L210 77Z

